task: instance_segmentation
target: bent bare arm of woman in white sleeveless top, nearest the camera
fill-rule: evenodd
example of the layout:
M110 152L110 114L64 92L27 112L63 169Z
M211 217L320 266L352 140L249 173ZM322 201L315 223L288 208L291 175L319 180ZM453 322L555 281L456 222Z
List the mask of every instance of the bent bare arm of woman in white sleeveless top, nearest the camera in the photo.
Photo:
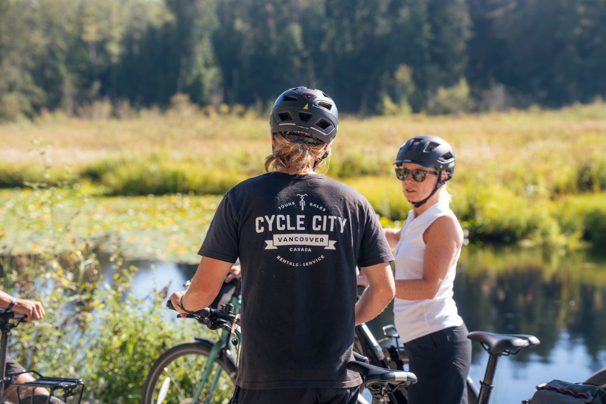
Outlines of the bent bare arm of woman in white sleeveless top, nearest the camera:
M425 230L423 239L425 240L423 277L396 280L398 299L433 299L444 282L463 236L452 217L441 216Z

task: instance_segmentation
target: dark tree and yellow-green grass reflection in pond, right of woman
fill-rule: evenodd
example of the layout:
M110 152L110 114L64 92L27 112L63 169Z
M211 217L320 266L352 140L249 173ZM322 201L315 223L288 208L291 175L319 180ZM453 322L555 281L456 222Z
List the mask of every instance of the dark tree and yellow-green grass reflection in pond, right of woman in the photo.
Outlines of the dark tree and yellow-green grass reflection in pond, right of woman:
M544 362L566 330L586 347L592 367L606 366L599 363L606 349L605 275L604 260L587 254L541 265L532 251L467 251L454 293L470 330L536 335L541 345L533 353Z

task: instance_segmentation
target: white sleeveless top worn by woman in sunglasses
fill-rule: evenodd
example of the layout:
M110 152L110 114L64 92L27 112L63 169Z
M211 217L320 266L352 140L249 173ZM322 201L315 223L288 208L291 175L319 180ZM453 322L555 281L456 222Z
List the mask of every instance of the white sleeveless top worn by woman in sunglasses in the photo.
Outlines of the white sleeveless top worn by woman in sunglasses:
M425 254L423 233L434 220L441 216L453 217L459 223L453 211L450 210L447 200L439 201L418 217L414 217L413 211L408 212L400 240L393 253L396 260L396 280L422 278ZM461 229L461 225L459 228ZM459 316L453 299L454 273L460 254L461 246L459 245L444 282L433 299L404 300L396 298L394 300L395 325L402 342L462 325L463 319Z

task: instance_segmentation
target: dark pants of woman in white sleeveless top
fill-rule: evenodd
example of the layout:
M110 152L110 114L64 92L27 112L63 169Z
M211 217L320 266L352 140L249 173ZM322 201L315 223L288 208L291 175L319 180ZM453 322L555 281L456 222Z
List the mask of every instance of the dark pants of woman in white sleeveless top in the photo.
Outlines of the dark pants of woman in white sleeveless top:
M466 404L471 341L465 324L404 344L410 371L419 380L408 388L408 404Z

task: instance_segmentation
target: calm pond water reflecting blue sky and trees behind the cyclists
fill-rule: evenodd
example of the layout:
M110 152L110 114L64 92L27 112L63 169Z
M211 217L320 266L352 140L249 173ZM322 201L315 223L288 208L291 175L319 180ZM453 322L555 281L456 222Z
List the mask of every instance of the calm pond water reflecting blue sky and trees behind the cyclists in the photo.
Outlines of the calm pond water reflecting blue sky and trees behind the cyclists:
M179 290L196 265L133 261L133 292L150 293L169 282ZM110 282L112 263L102 261ZM541 345L502 357L491 403L519 403L552 379L581 382L606 367L606 257L587 252L465 248L454 284L459 313L470 331L533 334ZM167 313L173 316L173 313ZM370 323L376 336L391 323L390 309ZM473 346L470 376L484 377L487 354Z

